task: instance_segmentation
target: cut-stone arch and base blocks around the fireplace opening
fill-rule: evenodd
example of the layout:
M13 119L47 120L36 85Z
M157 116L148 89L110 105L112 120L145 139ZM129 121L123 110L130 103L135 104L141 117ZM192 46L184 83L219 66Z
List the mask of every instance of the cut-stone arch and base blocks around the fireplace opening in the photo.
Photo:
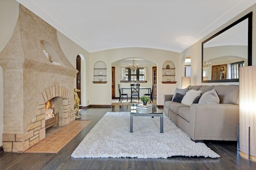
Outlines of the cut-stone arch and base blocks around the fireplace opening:
M28 132L24 134L3 134L4 150L6 152L19 152L21 146L23 146L23 151L25 151L45 138L45 104L54 97L61 97L63 101L63 112L59 113L60 126L68 125L68 123L74 121L74 111L71 108L73 105L71 105L71 101L68 98L70 96L69 93L68 89L59 86L59 83L55 83L54 86L39 93L37 95L37 113L35 117L32 117L32 123L28 125Z

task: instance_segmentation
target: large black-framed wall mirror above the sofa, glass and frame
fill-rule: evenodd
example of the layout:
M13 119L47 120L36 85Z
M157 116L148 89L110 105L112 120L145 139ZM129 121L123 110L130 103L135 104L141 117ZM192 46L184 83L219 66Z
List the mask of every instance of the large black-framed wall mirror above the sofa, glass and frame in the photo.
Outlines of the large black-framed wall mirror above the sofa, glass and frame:
M252 65L252 12L202 42L202 83L238 82Z

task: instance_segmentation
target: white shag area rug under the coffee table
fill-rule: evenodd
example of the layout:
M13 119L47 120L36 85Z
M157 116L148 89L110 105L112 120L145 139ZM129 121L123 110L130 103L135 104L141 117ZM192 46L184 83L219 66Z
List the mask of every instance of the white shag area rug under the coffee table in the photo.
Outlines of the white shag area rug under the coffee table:
M130 133L129 112L106 113L71 156L73 158L220 157L206 144L192 141L166 115L164 115L164 133L160 133L160 117L134 117L133 132Z

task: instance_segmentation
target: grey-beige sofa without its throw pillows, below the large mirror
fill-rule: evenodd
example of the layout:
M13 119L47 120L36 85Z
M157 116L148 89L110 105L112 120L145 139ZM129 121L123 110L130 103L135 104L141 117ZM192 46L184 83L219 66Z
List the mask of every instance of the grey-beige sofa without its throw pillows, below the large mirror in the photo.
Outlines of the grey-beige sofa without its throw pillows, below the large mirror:
M172 101L173 95L164 95L164 113L192 140L237 140L239 121L239 86L189 86L188 90L202 93L214 89L220 103L184 105ZM213 90L213 91L214 91Z

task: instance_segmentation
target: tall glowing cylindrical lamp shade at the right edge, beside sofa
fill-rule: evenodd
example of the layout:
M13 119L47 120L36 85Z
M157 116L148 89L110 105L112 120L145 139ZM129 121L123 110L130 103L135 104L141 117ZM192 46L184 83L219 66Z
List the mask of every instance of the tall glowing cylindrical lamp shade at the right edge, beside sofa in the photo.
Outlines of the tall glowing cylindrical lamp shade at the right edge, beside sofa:
M241 152L256 156L256 66L239 68L239 144Z

